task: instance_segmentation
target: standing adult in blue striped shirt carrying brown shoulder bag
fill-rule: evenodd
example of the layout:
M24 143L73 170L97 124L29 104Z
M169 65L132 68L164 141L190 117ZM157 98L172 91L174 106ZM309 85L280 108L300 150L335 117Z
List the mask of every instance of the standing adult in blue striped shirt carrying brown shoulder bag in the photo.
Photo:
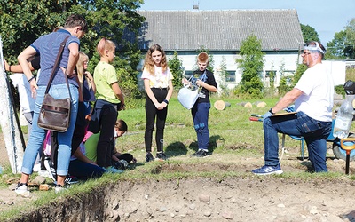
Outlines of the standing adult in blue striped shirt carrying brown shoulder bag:
M74 68L79 58L80 38L87 32L86 20L81 15L70 15L65 23L64 29L57 32L40 36L36 41L20 53L18 60L24 74L30 83L32 97L36 99L36 107L33 116L32 130L28 139L28 145L23 157L21 178L15 188L17 194L24 194L28 191L28 178L33 172L33 166L36 161L36 155L43 145L45 131L38 127L37 121L43 103L44 92L51 76L51 70L55 68L55 76L49 93L54 99L65 99L71 95L71 121L65 132L58 133L59 157L57 169L57 185L55 191L64 189L64 180L67 177L67 170L70 161L71 139L75 128L75 119L78 103L78 83L74 78ZM69 36L64 47L59 67L53 67L60 44ZM40 55L41 75L36 81L28 66L28 59ZM68 77L69 91L66 84L66 75Z

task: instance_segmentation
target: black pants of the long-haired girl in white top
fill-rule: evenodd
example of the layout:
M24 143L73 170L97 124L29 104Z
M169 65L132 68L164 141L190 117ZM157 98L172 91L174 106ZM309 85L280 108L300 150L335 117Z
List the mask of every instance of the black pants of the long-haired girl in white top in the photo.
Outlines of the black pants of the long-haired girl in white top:
M162 102L167 94L167 89L157 89L152 88L155 99L158 102ZM165 121L168 114L168 107L163 108L162 110L158 110L153 101L146 96L146 133L145 133L145 144L146 144L146 152L152 152L152 139L153 139L153 131L154 131L154 122L156 116L156 132L155 132L155 141L156 141L156 149L158 152L162 151L163 147L163 138L164 138L164 128Z

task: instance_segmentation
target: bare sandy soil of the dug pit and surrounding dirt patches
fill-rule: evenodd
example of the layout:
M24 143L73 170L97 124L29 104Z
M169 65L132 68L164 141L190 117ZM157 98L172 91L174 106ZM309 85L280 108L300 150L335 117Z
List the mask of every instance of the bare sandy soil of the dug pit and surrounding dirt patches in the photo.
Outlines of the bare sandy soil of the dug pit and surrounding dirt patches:
M4 164L6 153L3 153L2 137L0 144L0 155L3 156L0 164ZM295 157L298 152L295 148L283 157L282 170L304 172L308 169L310 163L307 160ZM143 154L137 157L138 162L144 161ZM170 159L187 158L190 156ZM154 173L245 173L262 164L261 156L213 154L193 164L167 162L163 167L154 169ZM327 166L329 171L344 173L345 162L330 157ZM351 163L350 175L354 173L355 164ZM9 175L7 177L12 178ZM96 201L90 202L89 206L83 207L83 200L79 200L79 204L73 201L67 206L66 214L62 213L63 209L56 209L33 215L42 215L41 221L355 221L354 185L355 182L345 176L341 179L280 178L258 177L251 173L225 178L147 179L114 184L100 192L100 196L105 196L102 202L94 196L91 198ZM0 189L0 211L36 198L36 194L23 197L10 189ZM102 217L91 216L90 211L94 212L91 209L97 210L99 204L104 209ZM81 210L86 211L83 213ZM60 217L55 220L53 215ZM70 218L70 215L76 217Z

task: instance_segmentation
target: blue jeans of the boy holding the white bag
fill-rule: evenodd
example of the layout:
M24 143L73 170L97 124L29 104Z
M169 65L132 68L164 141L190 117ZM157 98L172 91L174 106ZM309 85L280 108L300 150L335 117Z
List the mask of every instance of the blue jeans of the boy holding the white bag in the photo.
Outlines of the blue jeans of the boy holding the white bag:
M209 102L195 103L191 109L199 149L209 149Z

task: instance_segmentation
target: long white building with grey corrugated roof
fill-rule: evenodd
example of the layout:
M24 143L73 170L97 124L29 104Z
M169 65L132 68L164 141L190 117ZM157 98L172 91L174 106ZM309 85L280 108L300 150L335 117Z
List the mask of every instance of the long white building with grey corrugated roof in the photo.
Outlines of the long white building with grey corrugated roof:
M233 88L241 80L235 59L239 57L241 42L251 34L262 41L266 82L265 76L275 71L275 84L278 85L281 67L284 75L293 75L297 63L302 61L300 52L304 38L296 9L138 13L146 18L138 42L142 53L146 54L153 44L160 44L169 56L177 52L185 67L185 75L195 70L197 51L204 48L213 56L217 80L221 80L218 70L225 59L229 73L225 81Z

